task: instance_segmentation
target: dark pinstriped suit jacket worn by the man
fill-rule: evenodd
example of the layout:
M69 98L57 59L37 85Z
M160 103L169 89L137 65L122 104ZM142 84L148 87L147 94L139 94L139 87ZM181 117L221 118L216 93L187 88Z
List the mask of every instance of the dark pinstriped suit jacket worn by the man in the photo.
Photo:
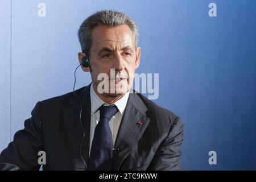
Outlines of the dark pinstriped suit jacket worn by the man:
M82 103L85 140L81 154L88 163L90 85L76 90ZM0 169L38 170L39 151L46 152L44 170L86 169L81 160L83 132L80 104L73 92L38 102L0 155ZM142 125L138 125L141 121ZM113 151L113 170L180 169L181 119L139 93L130 93Z

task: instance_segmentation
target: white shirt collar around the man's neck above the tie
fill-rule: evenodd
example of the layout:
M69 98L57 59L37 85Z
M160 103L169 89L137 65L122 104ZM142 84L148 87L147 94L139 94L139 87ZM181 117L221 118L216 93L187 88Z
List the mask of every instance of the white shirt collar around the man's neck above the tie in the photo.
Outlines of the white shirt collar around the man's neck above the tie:
M129 98L130 90L126 92L126 94L120 98L118 101L114 102L113 104L117 106L117 109L121 114L123 114L123 111L125 110L127 100ZM102 105L109 105L106 104L106 102L102 101L100 97L97 96L97 94L94 92L93 85L90 85L90 114L95 113L98 108Z

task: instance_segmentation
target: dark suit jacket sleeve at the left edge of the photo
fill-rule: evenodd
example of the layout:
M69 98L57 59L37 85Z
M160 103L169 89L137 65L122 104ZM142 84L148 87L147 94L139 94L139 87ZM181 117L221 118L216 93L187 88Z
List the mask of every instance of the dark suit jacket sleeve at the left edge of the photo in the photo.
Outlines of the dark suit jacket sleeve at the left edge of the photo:
M0 154L0 170L39 170L38 152L43 150L40 102L24 122L24 129L15 133L13 142Z

